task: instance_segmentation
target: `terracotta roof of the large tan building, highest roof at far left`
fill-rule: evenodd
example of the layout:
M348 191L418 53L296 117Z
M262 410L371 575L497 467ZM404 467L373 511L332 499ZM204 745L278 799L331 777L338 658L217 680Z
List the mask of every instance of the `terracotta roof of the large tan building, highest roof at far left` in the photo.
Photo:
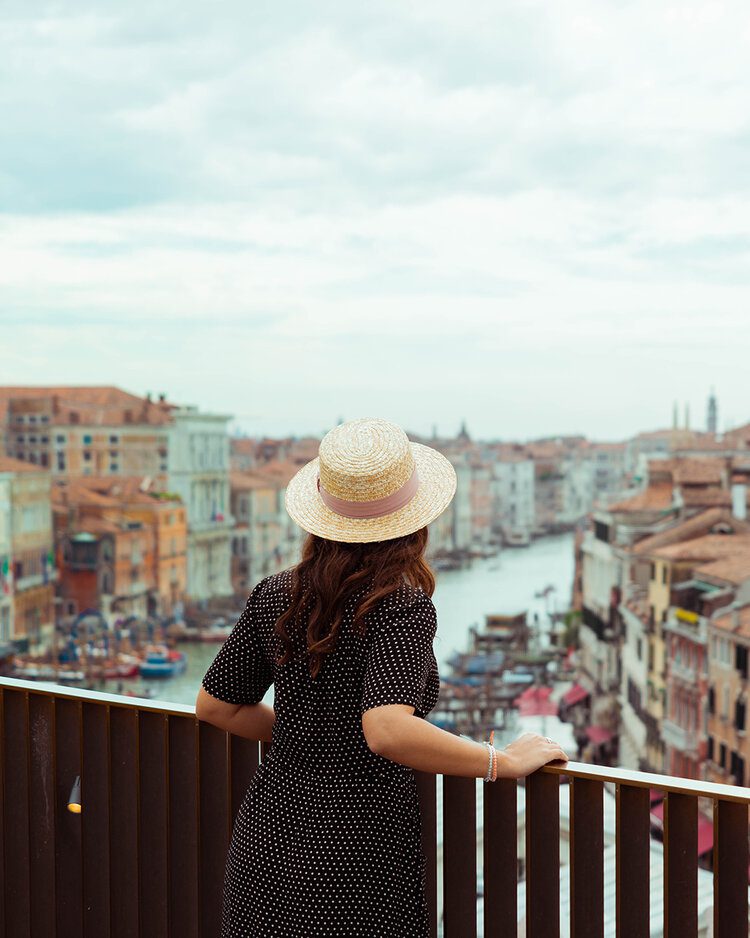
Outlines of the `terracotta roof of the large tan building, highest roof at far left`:
M0 387L0 423L5 422L11 400L45 398L50 401L51 422L56 425L70 425L74 419L71 414L75 414L82 426L122 426L129 411L128 423L163 426L171 423L171 411L177 407L166 400L149 401L114 385Z

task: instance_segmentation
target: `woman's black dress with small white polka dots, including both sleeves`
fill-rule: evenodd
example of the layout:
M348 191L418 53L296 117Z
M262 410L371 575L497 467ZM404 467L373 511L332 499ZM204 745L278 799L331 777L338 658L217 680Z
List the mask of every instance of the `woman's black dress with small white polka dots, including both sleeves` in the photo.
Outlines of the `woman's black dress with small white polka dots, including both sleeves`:
M427 938L415 774L369 749L362 714L395 703L419 717L433 709L437 618L431 598L404 584L362 637L353 613L368 589L350 599L313 680L305 655L272 663L291 571L266 577L203 678L233 704L257 703L274 684L271 746L232 831L221 938Z

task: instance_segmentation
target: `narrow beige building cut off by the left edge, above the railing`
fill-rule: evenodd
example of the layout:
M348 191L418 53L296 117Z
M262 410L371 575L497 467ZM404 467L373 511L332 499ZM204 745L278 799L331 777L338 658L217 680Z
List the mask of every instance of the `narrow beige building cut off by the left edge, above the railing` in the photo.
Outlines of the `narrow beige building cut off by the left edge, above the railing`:
M0 644L35 651L54 631L51 475L0 456Z

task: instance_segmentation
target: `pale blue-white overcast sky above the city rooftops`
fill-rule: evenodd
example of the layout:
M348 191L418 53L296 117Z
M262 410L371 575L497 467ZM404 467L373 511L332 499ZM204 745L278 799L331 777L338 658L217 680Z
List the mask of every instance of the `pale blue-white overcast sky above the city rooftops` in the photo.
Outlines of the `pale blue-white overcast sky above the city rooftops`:
M0 49L0 383L750 420L746 0L4 0Z

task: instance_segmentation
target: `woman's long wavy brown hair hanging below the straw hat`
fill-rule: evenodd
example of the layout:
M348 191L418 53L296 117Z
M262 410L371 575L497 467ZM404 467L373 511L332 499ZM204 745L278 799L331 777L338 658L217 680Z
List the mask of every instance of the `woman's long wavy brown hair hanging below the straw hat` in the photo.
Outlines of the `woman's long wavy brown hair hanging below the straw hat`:
M277 664L292 660L294 639L300 643L306 627L308 666L316 678L324 657L336 648L347 602L369 581L372 589L354 615L354 628L360 634L364 634L368 612L404 582L432 596L435 576L424 559L426 546L426 527L403 537L364 544L345 544L308 534L301 560L292 568L291 604L275 626L284 645Z

